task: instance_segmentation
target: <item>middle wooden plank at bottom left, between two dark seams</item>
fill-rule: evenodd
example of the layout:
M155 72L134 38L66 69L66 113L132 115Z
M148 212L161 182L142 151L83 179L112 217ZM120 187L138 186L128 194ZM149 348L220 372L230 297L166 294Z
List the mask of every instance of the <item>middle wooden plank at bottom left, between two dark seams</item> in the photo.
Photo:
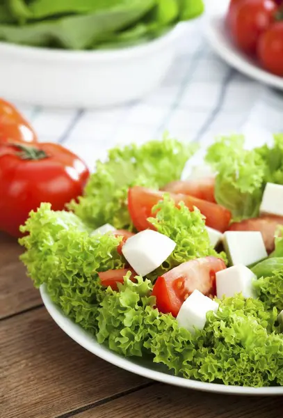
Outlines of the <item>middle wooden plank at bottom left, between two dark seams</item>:
M0 400L5 418L53 418L145 385L72 341L44 307L2 320Z

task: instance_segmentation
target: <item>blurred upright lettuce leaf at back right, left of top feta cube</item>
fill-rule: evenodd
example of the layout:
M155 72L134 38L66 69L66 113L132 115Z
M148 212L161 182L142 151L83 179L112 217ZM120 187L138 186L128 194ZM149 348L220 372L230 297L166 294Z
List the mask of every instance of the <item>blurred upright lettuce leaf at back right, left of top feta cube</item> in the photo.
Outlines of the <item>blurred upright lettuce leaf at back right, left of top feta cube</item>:
M220 137L207 150L206 161L216 170L216 201L234 220L256 217L264 189L266 163L256 150L245 150L242 135Z

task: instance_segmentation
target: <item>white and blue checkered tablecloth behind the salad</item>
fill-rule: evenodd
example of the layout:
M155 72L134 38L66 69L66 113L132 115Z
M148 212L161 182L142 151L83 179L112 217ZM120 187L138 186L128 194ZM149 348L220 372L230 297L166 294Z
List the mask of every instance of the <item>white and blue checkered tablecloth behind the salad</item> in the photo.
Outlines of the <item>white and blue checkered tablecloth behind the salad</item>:
M213 54L200 20L188 23L163 84L140 102L93 111L17 106L40 141L64 144L90 168L107 148L158 139L165 130L204 144L232 132L259 144L271 132L283 132L283 92L241 75Z

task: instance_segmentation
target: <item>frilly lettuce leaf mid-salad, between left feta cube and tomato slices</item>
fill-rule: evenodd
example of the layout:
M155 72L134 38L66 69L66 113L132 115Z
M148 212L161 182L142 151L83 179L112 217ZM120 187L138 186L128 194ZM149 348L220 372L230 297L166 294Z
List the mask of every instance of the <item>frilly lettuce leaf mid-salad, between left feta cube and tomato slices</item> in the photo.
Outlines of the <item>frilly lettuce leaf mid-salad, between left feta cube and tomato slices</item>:
M161 267L148 275L151 279L193 258L214 256L227 260L224 252L218 254L211 247L204 217L197 208L190 212L183 202L177 207L170 195L165 193L163 200L152 208L152 213L156 216L147 220L156 231L175 241L176 247Z

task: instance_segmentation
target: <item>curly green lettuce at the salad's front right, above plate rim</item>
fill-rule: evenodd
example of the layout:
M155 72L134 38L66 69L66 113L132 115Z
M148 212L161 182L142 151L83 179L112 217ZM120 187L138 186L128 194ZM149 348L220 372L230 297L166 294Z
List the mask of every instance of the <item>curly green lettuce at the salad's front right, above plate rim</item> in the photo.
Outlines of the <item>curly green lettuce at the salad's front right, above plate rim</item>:
M276 309L267 313L259 300L241 295L220 302L217 314L207 314L202 331L191 335L172 327L152 333L145 346L175 374L225 385L282 385L283 339L271 332Z

